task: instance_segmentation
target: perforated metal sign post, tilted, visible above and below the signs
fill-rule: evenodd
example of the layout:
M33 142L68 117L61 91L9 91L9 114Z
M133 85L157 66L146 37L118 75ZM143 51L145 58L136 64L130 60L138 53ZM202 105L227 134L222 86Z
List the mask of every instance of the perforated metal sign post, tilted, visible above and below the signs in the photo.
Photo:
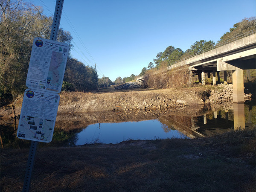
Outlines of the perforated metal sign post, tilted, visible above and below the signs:
M58 29L60 25L60 20L61 20L61 12L63 8L63 3L64 0L56 0L56 5L55 5L55 12L54 12L54 17L52 21L52 30L51 30L51 36L50 40L56 41L58 37ZM35 163L35 154L38 146L38 141L31 141L30 145L30 150L29 150L29 158L27 162L27 167L26 167L26 174L24 178L24 183L23 183L23 192L28 192L30 188L30 183L31 183L31 176L32 176L32 171Z

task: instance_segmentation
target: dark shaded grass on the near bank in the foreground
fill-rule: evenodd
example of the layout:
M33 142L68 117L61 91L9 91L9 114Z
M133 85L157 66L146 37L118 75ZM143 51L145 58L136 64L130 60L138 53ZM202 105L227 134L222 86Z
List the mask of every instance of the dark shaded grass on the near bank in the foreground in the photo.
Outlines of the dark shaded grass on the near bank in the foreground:
M28 153L1 150L1 191L22 190ZM255 191L255 130L38 148L31 191Z

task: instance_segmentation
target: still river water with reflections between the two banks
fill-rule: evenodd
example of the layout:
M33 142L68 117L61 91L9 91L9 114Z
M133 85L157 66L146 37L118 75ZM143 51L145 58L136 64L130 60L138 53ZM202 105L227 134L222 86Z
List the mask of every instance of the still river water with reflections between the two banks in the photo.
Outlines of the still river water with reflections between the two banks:
M1 121L4 148L29 148L15 130L18 120ZM120 143L125 140L196 138L222 134L239 128L255 129L255 101L212 109L198 106L187 110L108 111L57 116L52 142L41 147L75 146L93 143Z

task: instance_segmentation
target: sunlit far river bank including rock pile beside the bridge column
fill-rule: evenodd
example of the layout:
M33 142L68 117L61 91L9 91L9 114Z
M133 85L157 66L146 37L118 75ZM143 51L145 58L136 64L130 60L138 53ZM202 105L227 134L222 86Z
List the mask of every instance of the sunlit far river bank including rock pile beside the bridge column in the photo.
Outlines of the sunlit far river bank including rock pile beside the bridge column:
M232 106L233 96L230 85L198 86L180 89L126 89L95 93L61 92L58 115L93 111L131 111L156 109L198 108L209 104L212 108ZM245 95L250 99L251 94ZM11 105L1 108L1 119L18 116L21 111L23 96ZM195 110L196 111L196 110Z

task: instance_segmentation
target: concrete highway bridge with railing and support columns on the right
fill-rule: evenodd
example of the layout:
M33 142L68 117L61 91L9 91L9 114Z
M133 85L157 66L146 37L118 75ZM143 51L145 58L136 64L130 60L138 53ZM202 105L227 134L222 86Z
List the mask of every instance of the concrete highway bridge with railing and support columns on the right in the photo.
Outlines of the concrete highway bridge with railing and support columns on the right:
M244 103L243 70L256 69L256 29L236 37L231 43L178 61L169 66L168 70L178 67L189 67L190 76L193 71L196 71L202 84L205 84L205 74L208 73L209 76L212 73L213 85L216 84L216 73L219 79L219 71L224 71L224 83L227 83L227 71L231 70L233 102ZM137 81L143 81L143 79L139 77Z

